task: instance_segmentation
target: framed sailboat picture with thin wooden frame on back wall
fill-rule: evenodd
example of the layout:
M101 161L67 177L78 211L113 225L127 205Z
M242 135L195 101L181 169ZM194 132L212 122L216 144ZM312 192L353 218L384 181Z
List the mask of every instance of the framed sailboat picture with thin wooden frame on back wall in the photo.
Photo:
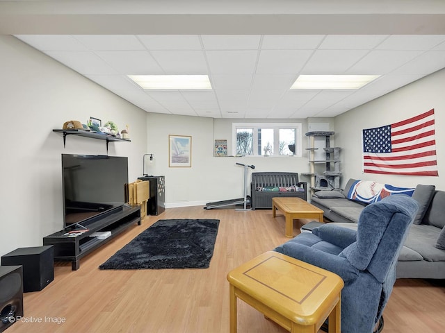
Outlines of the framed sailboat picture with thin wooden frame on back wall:
M190 168L192 166L192 137L168 135L168 167Z

